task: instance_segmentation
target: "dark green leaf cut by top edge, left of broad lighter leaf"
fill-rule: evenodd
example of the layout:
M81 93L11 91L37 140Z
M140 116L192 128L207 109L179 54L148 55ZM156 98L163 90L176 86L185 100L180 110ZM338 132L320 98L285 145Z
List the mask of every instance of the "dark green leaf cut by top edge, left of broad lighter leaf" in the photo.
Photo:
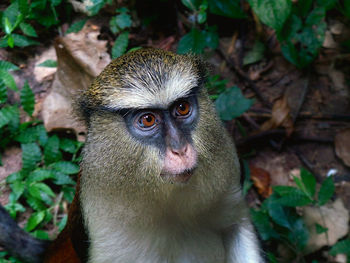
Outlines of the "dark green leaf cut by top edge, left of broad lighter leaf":
M246 14L241 9L240 0L208 0L209 11L216 15L230 18L245 18Z

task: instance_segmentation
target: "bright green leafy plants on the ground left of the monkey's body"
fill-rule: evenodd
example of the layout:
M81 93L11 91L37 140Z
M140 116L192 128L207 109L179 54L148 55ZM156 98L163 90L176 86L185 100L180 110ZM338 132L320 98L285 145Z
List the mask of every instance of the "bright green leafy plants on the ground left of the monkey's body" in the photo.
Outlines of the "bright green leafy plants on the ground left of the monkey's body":
M17 69L7 61L0 61L0 72L8 76L11 76L10 71ZM27 82L19 92L20 103L10 105L7 102L7 87L17 90L17 86L16 83L13 86L8 83L4 80L0 82L0 151L9 144L19 144L22 169L6 178L12 190L6 209L15 218L29 206L32 213L25 229L34 236L48 238L48 234L39 229L49 222L56 222L53 212L61 202L72 201L75 182L71 176L79 172L78 155L82 143L49 135L44 126L31 117L35 97ZM20 107L31 117L31 121L20 122ZM61 193L63 198L56 200L57 193ZM65 222L66 219L58 222L60 229Z

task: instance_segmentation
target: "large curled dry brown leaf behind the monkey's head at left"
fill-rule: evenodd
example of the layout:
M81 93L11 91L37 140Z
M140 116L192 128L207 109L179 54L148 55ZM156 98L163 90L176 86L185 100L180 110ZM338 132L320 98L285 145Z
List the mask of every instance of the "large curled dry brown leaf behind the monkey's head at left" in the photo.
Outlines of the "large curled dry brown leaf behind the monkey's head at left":
M79 140L84 139L85 127L73 117L72 103L111 60L107 42L98 40L98 35L99 28L88 22L80 32L56 39L57 72L42 109L48 131L73 130Z

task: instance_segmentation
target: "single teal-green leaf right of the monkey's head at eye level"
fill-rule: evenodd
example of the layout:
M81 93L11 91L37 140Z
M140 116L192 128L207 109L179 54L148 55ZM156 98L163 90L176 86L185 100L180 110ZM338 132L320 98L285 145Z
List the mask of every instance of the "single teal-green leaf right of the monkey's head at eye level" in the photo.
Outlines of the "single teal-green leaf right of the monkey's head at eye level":
M232 120L254 104L253 100L246 99L238 87L231 87L219 95L215 101L216 109L222 120Z

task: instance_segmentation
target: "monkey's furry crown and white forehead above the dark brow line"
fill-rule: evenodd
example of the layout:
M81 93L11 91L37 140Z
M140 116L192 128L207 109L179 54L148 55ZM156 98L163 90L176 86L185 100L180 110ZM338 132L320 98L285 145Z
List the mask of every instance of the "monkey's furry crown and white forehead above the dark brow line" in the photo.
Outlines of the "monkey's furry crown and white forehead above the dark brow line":
M108 65L86 95L89 101L114 109L168 107L201 84L202 71L191 56L139 50Z

